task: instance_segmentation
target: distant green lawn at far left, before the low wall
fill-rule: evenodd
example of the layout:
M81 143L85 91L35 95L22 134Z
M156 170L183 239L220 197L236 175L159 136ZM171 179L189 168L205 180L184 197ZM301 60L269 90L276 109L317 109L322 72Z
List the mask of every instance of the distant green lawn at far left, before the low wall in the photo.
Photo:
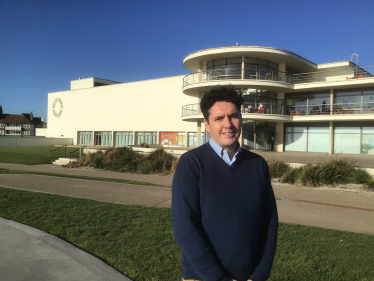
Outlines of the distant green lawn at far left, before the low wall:
M33 146L33 147L0 147L0 163L39 165L51 164L59 157L51 157L51 150L57 147L51 146ZM67 147L66 153L69 157L69 151L76 150L74 147ZM60 156L64 157L64 156Z

